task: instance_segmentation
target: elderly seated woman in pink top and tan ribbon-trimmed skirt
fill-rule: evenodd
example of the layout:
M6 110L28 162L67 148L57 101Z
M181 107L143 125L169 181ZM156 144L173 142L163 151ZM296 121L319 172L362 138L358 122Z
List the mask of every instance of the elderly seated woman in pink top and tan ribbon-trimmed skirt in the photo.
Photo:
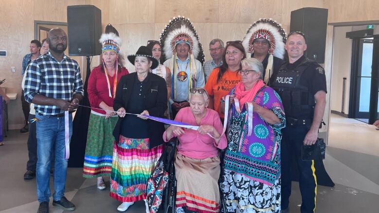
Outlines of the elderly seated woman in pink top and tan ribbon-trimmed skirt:
M218 113L208 109L209 98L203 88L192 88L189 107L181 109L176 121L199 126L197 130L170 126L163 134L168 142L177 137L175 157L176 212L220 211L219 150L226 147L226 137Z

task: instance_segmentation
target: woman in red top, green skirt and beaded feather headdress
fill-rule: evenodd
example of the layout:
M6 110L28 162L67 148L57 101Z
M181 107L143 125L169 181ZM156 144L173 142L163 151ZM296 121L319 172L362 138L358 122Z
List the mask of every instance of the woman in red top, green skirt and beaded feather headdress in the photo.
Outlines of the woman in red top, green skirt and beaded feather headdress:
M88 79L88 99L93 109L89 117L83 166L83 177L97 178L100 190L105 189L103 177L109 177L112 171L112 131L117 122L117 115L113 112L116 88L121 77L128 74L121 62L118 32L112 25L108 25L107 29L99 40L103 45L102 64L92 69Z

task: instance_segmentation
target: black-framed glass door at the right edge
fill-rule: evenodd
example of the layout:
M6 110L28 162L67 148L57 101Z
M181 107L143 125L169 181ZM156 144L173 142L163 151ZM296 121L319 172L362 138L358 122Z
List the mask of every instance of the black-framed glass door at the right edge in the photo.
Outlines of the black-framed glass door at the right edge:
M350 78L350 118L372 124L378 119L378 46L373 30L346 33L352 39Z

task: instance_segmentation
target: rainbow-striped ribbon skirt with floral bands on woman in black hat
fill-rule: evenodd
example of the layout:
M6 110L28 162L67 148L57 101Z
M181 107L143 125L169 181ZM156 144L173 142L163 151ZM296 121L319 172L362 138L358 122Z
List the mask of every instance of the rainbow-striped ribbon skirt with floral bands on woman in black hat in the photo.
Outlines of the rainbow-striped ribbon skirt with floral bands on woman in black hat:
M149 149L149 138L120 135L113 147L110 197L121 202L145 199L147 180L162 151L162 145Z

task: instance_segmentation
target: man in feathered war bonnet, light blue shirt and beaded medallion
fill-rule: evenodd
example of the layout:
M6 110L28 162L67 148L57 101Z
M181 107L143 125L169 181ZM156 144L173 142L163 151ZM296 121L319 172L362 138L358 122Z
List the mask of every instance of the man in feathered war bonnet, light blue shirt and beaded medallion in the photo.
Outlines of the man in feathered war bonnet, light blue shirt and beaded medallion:
M189 106L189 89L205 85L204 54L192 24L182 16L170 20L160 40L168 59L163 65L172 70L172 96L169 102L174 118L180 109ZM199 59L198 56L203 57L201 62L196 59Z

